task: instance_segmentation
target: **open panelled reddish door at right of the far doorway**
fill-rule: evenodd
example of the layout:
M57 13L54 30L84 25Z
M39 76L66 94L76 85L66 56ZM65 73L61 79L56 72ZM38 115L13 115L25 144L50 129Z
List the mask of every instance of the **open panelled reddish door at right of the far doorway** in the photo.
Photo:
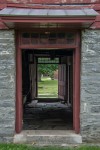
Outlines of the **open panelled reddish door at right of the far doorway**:
M58 67L58 98L66 99L66 64Z

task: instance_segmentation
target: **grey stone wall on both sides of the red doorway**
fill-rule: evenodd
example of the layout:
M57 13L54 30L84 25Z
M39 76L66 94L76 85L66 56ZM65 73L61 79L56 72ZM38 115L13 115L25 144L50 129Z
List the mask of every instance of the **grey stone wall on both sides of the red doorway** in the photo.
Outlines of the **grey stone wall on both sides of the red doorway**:
M15 37L0 30L0 142L12 142L15 132ZM100 30L82 32L81 134L100 142Z

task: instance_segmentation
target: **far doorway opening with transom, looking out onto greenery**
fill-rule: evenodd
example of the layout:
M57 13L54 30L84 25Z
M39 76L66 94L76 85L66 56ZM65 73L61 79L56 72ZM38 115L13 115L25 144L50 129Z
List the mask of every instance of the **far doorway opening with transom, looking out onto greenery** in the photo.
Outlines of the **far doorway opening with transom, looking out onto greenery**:
M58 66L60 58L37 58L37 97L58 98Z

